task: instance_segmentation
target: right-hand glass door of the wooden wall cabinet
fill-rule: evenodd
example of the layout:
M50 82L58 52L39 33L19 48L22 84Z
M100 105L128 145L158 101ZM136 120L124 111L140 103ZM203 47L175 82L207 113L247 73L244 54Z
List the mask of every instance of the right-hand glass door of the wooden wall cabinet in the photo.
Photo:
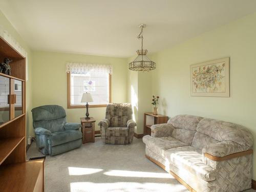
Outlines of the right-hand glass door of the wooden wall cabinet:
M14 94L16 95L16 103L14 103L15 117L23 114L23 82L14 79Z

